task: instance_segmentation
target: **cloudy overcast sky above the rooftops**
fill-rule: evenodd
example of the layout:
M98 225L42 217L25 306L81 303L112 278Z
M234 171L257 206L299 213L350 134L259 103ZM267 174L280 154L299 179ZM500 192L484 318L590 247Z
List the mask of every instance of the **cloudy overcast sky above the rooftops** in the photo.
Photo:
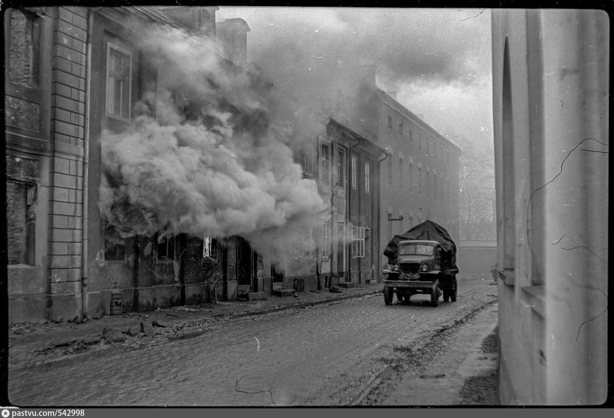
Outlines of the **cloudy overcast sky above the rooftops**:
M378 87L435 130L492 148L489 10L221 6L217 15L247 21L248 58L272 80L375 62Z

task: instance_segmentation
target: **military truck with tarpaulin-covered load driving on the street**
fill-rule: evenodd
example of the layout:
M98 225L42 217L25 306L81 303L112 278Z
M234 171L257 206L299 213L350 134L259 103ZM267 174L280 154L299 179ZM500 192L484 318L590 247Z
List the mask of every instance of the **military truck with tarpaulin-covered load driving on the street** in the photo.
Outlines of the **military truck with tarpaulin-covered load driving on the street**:
M384 302L409 301L413 295L430 295L437 307L443 292L444 301L456 302L459 269L456 244L443 226L432 220L422 222L402 235L395 235L384 249L389 268L384 281Z

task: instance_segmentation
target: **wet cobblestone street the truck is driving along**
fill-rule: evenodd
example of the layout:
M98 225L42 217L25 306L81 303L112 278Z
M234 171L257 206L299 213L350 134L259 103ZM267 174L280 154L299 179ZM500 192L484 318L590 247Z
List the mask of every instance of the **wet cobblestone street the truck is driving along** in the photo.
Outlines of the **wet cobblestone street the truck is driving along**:
M461 279L458 301L438 308L425 296L386 306L381 294L367 295L235 319L192 338L11 362L9 398L19 406L378 404L365 395L379 390L375 377L400 350L416 352L463 327L460 319L493 306L496 295L488 280ZM402 393L388 403L402 404Z

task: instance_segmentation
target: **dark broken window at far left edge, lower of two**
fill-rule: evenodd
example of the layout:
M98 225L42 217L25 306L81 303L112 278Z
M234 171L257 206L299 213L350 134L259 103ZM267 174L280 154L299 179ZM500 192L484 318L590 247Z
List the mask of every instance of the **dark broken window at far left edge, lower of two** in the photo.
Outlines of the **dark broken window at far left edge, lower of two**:
M34 265L36 185L6 182L7 255L9 265Z

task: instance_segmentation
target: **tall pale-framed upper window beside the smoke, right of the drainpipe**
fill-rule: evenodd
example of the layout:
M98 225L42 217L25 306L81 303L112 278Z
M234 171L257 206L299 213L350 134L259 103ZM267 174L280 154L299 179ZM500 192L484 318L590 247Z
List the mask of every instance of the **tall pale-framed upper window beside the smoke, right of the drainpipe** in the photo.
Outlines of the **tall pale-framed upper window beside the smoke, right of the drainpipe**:
M130 51L107 45L107 116L130 121L132 55Z

